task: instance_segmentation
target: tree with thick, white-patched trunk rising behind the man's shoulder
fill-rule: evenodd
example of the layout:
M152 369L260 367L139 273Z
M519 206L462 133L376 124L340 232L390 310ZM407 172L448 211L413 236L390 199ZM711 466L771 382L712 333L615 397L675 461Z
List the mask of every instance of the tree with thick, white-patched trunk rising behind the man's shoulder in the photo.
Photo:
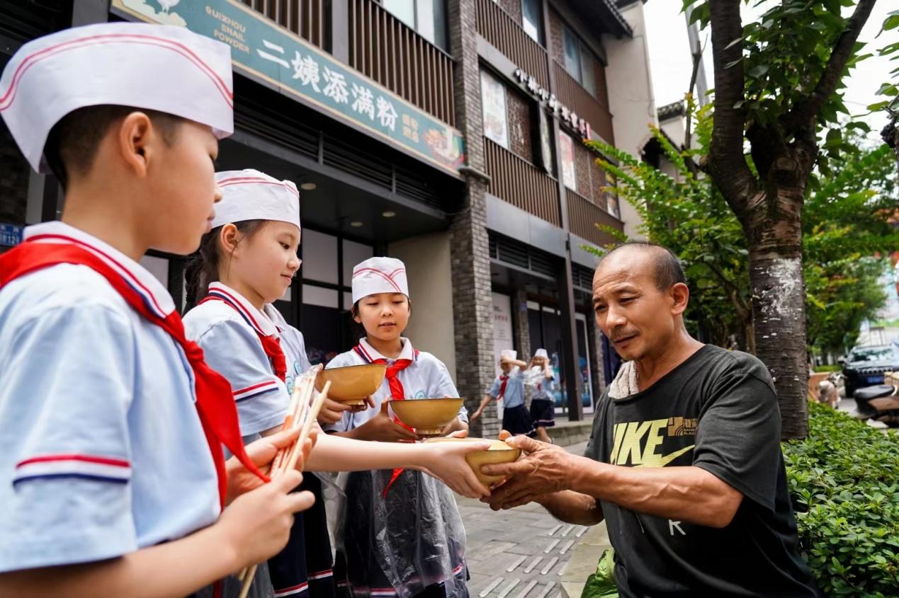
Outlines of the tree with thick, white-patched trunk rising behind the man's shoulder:
M848 147L838 119L849 114L841 87L865 57L859 31L875 2L783 0L744 25L741 0L683 0L691 18L711 29L708 172L746 236L757 355L777 387L786 438L807 432L807 183L816 164L826 169ZM844 7L852 8L847 16Z

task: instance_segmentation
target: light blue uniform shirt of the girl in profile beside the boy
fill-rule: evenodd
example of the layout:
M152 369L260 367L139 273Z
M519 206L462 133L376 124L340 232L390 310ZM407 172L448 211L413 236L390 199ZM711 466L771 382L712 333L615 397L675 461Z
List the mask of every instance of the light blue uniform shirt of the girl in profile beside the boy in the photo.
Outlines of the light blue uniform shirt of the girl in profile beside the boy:
M235 290L218 282L209 285L212 300L184 315L184 331L203 349L206 363L227 378L234 389L240 433L245 442L287 415L287 387L271 369L259 335L279 337L271 318Z

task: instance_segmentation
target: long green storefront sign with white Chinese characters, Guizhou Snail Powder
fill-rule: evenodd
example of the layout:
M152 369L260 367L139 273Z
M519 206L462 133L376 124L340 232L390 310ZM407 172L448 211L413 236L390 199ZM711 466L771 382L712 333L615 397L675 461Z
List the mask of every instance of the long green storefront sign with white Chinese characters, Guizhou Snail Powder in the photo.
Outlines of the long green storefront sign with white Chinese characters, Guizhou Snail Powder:
M112 0L116 12L180 25L231 46L237 72L261 79L453 174L462 134L237 0Z

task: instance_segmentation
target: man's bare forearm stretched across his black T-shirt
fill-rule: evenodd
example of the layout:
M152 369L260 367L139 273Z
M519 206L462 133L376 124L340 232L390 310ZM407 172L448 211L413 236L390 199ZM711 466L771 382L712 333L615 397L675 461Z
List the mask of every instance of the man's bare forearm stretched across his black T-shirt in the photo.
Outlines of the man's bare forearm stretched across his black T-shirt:
M632 511L724 527L743 498L699 467L631 468L578 457L570 488Z

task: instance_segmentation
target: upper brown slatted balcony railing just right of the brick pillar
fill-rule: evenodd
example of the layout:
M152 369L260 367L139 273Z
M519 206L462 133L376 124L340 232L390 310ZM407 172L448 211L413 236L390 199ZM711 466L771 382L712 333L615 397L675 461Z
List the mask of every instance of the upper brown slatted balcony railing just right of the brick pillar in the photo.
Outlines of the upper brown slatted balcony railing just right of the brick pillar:
M494 0L477 0L477 32L537 82L549 89L547 50Z

